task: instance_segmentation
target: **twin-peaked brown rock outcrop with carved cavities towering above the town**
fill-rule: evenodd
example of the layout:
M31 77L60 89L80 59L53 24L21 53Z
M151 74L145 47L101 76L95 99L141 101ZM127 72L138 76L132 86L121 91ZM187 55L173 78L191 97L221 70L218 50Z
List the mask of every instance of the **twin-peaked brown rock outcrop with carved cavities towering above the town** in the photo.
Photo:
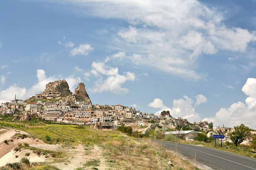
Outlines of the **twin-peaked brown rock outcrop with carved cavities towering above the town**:
M84 83L79 83L75 90L75 94L72 94L72 92L69 90L68 82L64 79L49 82L43 92L32 96L28 100L37 99L55 99L71 103L75 101L87 101L92 104L90 97L85 90Z

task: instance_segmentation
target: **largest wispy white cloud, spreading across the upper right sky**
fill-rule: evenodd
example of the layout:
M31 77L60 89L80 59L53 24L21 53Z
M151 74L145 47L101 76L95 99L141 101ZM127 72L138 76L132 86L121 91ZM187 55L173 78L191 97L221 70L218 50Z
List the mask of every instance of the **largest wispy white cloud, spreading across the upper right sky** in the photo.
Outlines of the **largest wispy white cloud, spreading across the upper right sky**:
M191 81L206 76L195 71L198 56L223 50L243 53L255 41L255 31L226 26L223 11L196 0L58 2L72 4L71 8L85 15L128 22L113 35L115 47L131 54L123 59ZM88 54L78 51L71 55Z

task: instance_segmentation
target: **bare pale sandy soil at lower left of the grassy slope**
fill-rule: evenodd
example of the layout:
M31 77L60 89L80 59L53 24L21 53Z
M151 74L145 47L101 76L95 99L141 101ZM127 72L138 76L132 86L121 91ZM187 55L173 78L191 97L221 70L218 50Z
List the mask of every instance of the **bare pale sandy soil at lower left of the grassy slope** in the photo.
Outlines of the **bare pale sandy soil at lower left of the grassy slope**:
M0 131L3 129L0 129ZM4 129L6 130L6 129ZM4 166L6 163L19 162L26 153L29 153L28 159L30 162L49 162L51 165L58 167L61 170L73 170L77 167L83 167L86 161L91 159L100 160L100 166L97 166L99 170L108 169L105 164L105 159L102 157L102 150L98 146L93 146L89 150L84 150L84 146L79 144L78 146L70 146L63 148L62 145L45 144L43 141L33 138L17 138L13 137L15 133L27 134L24 131L17 131L14 129L7 129L3 134L0 134L0 166ZM4 143L7 140L8 143ZM36 141L38 140L38 141ZM62 163L52 163L52 157L45 158L43 155L36 155L33 151L28 149L22 149L21 151L13 151L19 143L27 142L29 146L33 146L40 149L52 150L52 151L63 151L68 153L67 161Z

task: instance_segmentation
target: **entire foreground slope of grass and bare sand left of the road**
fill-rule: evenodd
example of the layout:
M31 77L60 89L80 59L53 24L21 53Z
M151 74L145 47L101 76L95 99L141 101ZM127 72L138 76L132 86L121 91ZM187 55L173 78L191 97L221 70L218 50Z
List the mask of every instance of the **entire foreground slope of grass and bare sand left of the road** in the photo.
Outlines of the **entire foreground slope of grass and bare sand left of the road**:
M1 121L0 127L0 169L195 168L157 144L118 131L30 121ZM29 164L19 163L24 157Z

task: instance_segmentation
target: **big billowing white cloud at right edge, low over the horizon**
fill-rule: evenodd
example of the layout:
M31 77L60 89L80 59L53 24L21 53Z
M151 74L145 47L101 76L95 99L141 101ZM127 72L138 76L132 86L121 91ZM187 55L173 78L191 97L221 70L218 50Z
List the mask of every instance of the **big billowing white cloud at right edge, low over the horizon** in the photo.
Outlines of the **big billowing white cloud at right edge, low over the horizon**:
M241 123L256 129L256 79L248 78L242 88L248 97L245 103L238 101L229 108L221 108L214 117L204 118L203 121L213 122L216 126L223 123L228 127L240 125Z

